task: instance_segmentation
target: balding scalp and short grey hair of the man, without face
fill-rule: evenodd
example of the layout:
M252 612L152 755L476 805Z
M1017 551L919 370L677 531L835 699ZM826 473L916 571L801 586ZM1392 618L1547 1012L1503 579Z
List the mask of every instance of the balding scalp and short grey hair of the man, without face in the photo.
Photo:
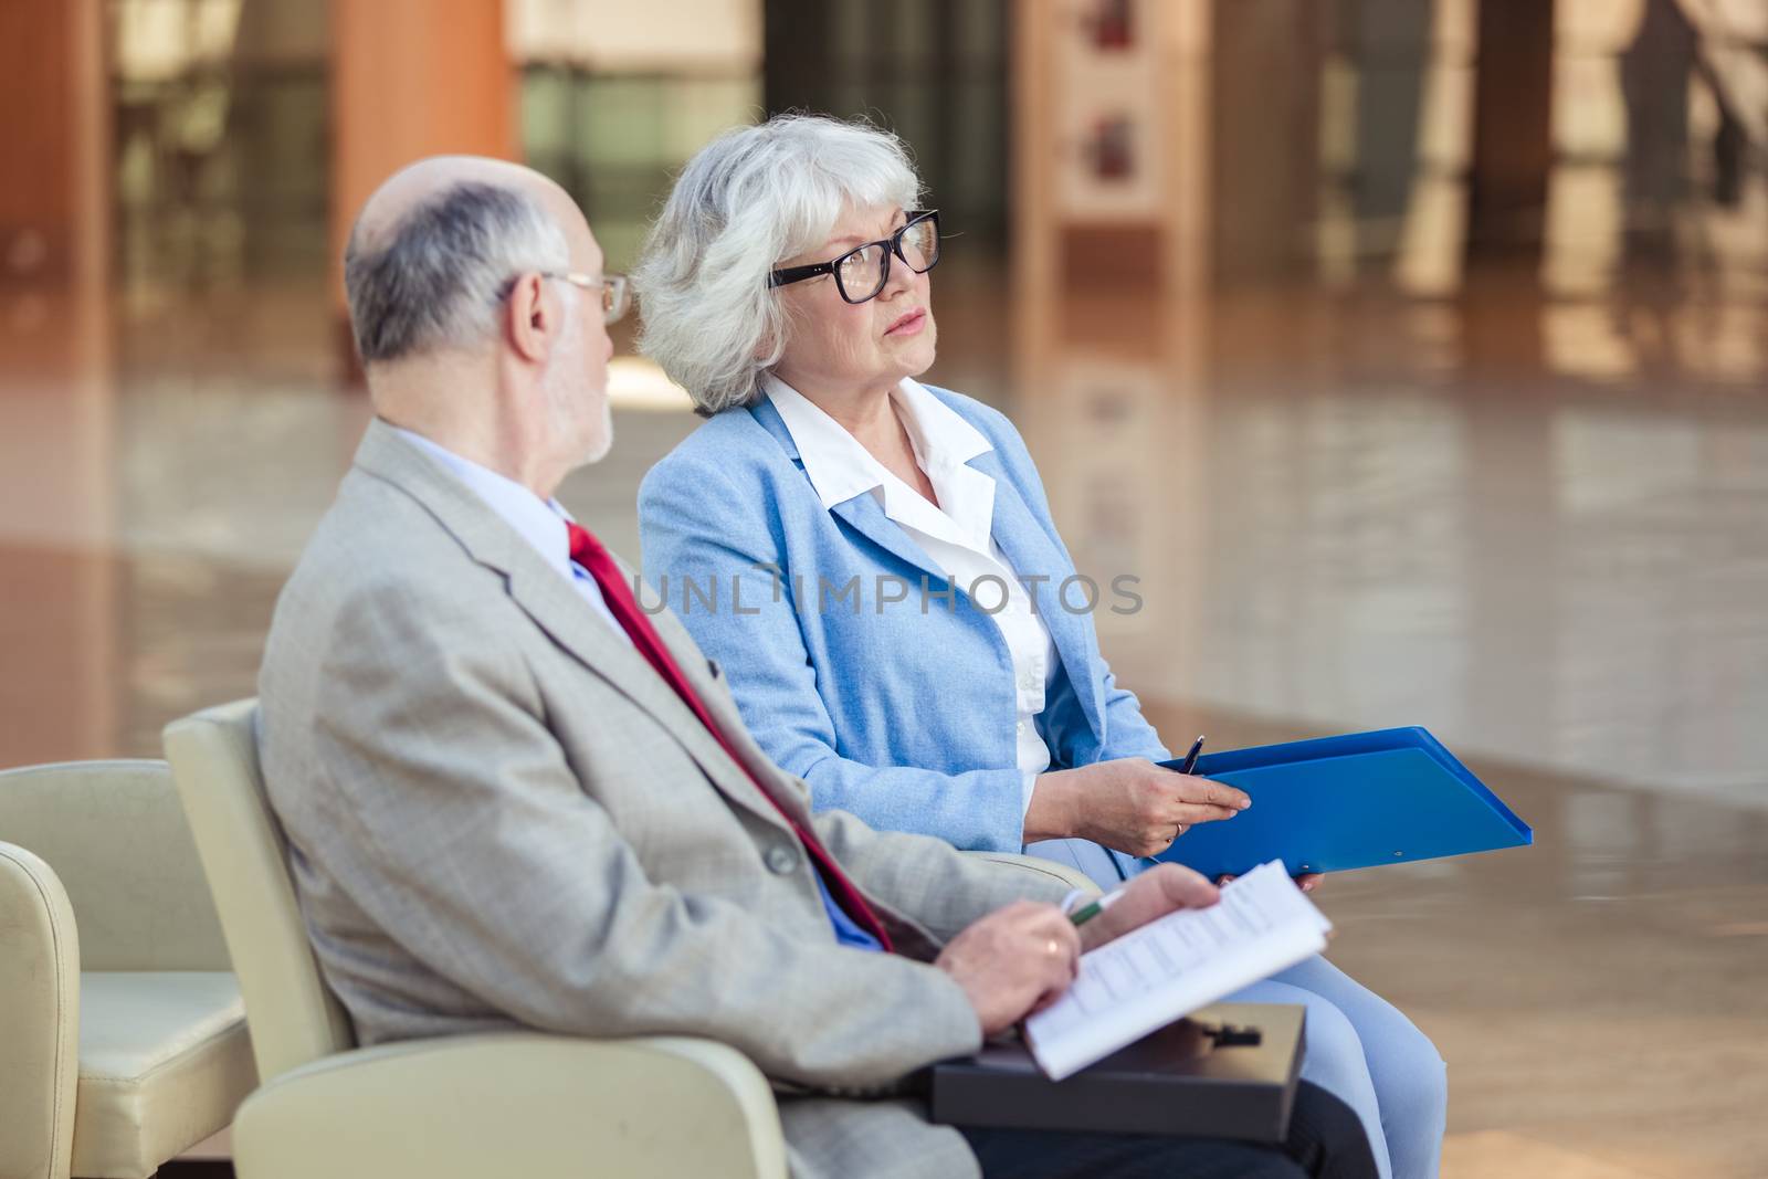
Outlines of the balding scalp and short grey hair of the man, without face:
M437 156L400 170L362 205L345 249L362 364L490 345L511 278L569 270L591 249L583 214L530 168Z

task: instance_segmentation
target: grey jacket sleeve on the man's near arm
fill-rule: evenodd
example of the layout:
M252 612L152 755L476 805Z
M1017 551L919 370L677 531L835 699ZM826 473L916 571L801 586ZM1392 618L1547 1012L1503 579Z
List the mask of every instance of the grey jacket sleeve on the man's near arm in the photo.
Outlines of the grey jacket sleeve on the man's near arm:
M705 1036L817 1089L889 1084L979 1045L942 970L649 879L566 760L522 654L446 587L354 594L322 650L338 689L290 739L322 767L301 788L329 811L324 866L490 1009L571 1036Z

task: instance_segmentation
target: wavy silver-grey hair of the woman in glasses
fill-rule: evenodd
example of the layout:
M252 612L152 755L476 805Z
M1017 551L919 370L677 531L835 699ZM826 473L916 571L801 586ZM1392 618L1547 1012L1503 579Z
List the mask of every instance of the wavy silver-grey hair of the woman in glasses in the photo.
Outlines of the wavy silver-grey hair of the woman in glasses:
M748 405L785 352L769 270L827 240L845 207L919 196L902 140L868 124L778 115L727 131L682 168L640 251L638 350L698 414Z

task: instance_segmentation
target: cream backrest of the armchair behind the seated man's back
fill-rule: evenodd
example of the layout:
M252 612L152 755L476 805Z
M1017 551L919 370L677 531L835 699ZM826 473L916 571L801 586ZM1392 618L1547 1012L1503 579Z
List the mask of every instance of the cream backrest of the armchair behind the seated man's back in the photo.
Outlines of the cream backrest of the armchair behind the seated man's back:
M345 1052L355 1036L325 986L288 871L288 843L263 792L256 700L166 726L166 760L233 956L258 1076Z

